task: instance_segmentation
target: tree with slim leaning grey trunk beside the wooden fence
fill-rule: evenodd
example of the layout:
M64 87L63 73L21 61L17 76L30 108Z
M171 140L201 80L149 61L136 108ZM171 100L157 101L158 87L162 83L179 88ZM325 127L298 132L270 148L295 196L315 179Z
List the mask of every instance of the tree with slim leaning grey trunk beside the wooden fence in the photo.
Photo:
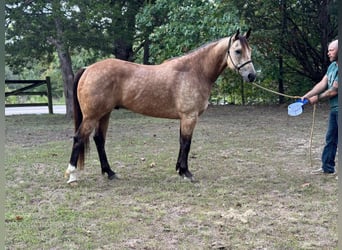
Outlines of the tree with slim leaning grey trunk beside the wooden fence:
M70 22L77 10L68 1L7 1L6 61L17 71L33 58L51 62L56 50L64 81L67 116L72 114L73 70ZM20 34L20 35L19 35Z

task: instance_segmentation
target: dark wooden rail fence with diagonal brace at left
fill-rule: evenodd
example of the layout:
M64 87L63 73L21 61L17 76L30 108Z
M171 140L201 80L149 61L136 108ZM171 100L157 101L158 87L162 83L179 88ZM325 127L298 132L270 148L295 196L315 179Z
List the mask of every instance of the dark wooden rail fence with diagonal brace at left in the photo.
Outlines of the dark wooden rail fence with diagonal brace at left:
M47 103L14 103L14 104L5 104L6 107L48 106L49 113L53 114L50 77L46 77L45 80L5 80L5 84L11 84L12 86L17 84L20 86L19 88L15 90L5 92L5 97L44 95L44 96L47 96L47 99L48 99ZM32 91L32 89L40 85L44 85L44 84L46 84L46 91ZM27 85L27 86L23 87L23 85Z

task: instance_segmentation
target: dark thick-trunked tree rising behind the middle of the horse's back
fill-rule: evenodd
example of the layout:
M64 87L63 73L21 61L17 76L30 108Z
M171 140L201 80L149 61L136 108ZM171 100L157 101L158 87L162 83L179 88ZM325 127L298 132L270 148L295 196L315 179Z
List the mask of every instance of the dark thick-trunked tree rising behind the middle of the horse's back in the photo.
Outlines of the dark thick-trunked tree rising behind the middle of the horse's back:
M136 15L144 0L111 0L96 3L78 3L82 15L85 40L80 46L103 51L115 58L133 61L133 44L136 35ZM90 41L89 29L92 30ZM99 35L99 37L96 37ZM101 39L99 39L101 38Z

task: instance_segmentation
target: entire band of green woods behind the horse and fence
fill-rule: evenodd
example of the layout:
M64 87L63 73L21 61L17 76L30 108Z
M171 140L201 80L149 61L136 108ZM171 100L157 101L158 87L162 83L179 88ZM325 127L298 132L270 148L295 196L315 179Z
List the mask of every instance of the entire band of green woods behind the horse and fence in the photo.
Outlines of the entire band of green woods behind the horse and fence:
M325 74L337 38L337 0L5 1L6 79L51 77L55 98L72 112L75 72L108 57L158 64L252 28L259 84L304 94ZM229 74L229 77L227 77ZM217 103L284 103L226 71Z

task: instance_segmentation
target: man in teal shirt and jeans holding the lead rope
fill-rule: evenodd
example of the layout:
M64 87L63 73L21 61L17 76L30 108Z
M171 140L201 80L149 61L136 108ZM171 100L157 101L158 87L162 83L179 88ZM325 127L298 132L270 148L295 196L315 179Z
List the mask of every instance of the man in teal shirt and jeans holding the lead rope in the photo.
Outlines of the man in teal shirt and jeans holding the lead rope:
M326 133L326 144L322 152L322 167L313 174L335 174L335 156L338 144L338 40L328 46L330 66L322 80L317 83L302 99L310 104L329 99L330 116Z

